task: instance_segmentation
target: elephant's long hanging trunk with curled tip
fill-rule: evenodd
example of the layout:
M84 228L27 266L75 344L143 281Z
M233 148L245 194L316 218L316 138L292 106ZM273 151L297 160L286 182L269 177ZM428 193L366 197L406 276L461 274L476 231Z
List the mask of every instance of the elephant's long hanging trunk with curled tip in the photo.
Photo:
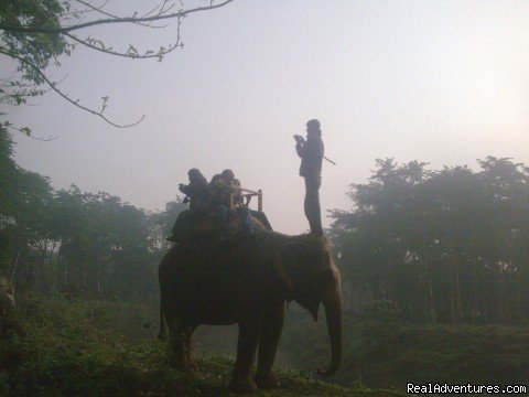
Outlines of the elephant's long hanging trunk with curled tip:
M316 374L323 377L332 376L338 371L342 362L342 291L336 289L323 300L327 331L331 340L331 364L327 369L317 369Z

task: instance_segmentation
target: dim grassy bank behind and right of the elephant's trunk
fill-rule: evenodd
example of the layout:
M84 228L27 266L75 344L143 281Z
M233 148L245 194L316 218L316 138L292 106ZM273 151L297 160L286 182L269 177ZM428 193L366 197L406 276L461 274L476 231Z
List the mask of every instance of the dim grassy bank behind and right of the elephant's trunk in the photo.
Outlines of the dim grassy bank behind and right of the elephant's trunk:
M301 319L304 319L302 316ZM333 382L406 390L414 384L527 385L529 328L406 324L391 319L344 318L344 360ZM302 341L302 343L300 343ZM283 345L312 368L328 355L325 325L298 320Z

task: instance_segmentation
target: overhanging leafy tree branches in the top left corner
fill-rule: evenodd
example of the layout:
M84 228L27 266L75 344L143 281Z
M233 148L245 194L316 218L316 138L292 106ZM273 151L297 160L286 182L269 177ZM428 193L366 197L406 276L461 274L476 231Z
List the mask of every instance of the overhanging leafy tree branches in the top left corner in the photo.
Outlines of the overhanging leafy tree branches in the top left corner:
M50 65L61 66L60 57L69 56L76 45L83 45L111 56L127 58L155 58L159 62L170 52L182 49L181 37L182 19L188 14L213 10L223 7L233 0L214 4L213 1L205 7L195 7L177 11L174 10L175 2L163 0L150 11L140 13L131 11L129 15L116 15L108 11L107 2L99 4L90 0L3 0L0 3L0 56L13 61L17 72L0 79L0 104L22 105L29 98L42 96L46 90L54 90L72 105L96 115L115 127L130 127L140 122L119 125L105 115L108 106L108 96L101 97L100 109L86 107L78 99L72 99L58 88L61 82L54 82L46 75ZM111 45L105 44L101 40L88 36L80 36L82 33L90 31L94 26L107 24L130 23L140 29L160 29L165 26L153 25L155 21L176 21L175 42L168 47L161 45L159 49L140 52L134 45L129 44L127 50L114 50ZM47 88L46 88L47 86ZM6 114L0 114L6 116ZM31 136L29 127L17 127L9 120L2 122L4 128L11 128ZM48 140L48 139L43 139Z

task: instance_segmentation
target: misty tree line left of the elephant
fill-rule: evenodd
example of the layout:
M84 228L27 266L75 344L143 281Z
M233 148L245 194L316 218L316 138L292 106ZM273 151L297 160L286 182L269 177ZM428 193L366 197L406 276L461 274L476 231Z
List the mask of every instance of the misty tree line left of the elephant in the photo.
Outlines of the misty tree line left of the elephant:
M54 190L12 154L0 128L0 276L19 290L158 299L164 237L186 208L180 197L149 212L105 192Z

